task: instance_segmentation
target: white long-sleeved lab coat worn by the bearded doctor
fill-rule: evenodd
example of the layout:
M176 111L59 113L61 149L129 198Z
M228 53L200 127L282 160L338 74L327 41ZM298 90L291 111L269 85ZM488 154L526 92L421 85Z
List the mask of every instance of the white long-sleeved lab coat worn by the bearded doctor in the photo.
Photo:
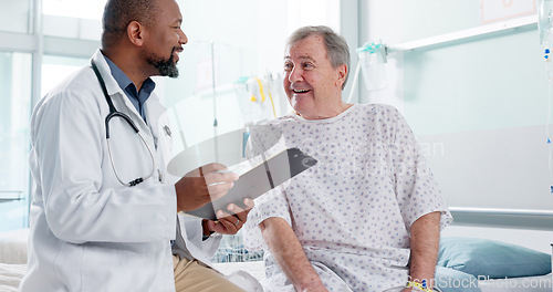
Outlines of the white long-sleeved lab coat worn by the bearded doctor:
M175 291L170 240L207 262L220 239L202 242L200 219L178 216L177 223L174 181L166 171L171 139L163 129L168 119L158 97L152 94L145 104L146 124L100 50L93 60L115 107L131 116L154 152L155 175L135 187L116 179L105 138L109 111L91 66L44 96L31 121L34 199L29 267L20 290ZM109 127L119 176L148 175L150 156L128 124L115 117Z

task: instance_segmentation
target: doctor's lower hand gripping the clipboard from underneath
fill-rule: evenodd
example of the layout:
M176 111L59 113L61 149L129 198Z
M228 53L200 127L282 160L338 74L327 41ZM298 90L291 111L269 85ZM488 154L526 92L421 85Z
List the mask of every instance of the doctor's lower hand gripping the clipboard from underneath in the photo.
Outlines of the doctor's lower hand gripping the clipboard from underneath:
M246 205L246 209L242 209L234 204L229 204L227 208L233 215L222 210L217 211L217 218L219 218L219 220L206 220L207 222L204 225L204 233L211 233L211 231L213 231L220 234L236 234L246 223L248 213L254 206L252 199L244 199L243 204Z

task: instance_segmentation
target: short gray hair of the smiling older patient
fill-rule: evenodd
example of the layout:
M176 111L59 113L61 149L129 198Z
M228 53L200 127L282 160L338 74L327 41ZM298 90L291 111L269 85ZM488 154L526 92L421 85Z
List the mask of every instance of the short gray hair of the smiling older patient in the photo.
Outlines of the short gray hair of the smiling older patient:
M342 84L342 90L344 90L347 83L347 77L349 76L351 55L349 46L347 46L347 42L342 35L335 33L331 28L325 25L303 27L295 30L292 35L288 38L286 49L292 48L299 41L302 41L313 34L319 34L324 38L324 44L326 45L326 55L334 69L338 67L342 64L346 65L347 73L344 80L344 84Z

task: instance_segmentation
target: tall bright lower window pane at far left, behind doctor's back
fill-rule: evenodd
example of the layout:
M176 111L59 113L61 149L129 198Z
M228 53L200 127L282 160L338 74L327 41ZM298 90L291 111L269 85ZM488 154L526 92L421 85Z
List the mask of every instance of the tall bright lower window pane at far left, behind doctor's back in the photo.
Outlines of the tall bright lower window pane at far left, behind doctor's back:
M0 52L0 231L28 226L31 54Z

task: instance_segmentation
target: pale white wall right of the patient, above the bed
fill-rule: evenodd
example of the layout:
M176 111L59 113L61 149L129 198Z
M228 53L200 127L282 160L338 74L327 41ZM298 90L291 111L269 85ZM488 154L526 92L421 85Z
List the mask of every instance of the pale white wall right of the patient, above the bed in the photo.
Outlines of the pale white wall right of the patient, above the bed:
M390 48L489 24L483 22L480 0L361 2L361 39L382 39ZM450 206L553 213L553 173L545 143L551 93L542 51L536 27L526 27L390 53L388 88L363 91L361 100L399 107L429 147L427 157ZM504 226L509 220L520 219L507 217ZM525 223L528 230L533 228L531 220ZM445 234L497 237L543 251L553 242L547 231L535 231L540 234L535 238L528 230L477 229L458 226Z

